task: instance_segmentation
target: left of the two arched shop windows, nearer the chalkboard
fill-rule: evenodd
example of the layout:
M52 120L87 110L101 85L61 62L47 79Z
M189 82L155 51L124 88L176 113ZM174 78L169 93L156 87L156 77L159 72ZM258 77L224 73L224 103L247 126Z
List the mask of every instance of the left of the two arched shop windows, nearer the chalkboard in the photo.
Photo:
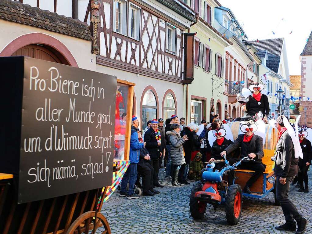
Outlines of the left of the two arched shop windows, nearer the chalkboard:
M142 129L152 119L157 119L157 102L153 91L147 90L142 100Z

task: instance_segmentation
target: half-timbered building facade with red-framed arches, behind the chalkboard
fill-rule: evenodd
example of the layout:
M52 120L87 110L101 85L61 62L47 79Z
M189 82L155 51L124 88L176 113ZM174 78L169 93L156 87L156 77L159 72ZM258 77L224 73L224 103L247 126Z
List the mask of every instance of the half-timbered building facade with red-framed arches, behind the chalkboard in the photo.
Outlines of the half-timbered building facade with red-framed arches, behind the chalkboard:
M183 83L193 78L183 75L184 37L194 22L195 12L178 0L0 0L0 56L46 59L135 83L133 114L145 128L149 119L183 115ZM119 91L126 99L127 90ZM122 104L119 110L122 121Z

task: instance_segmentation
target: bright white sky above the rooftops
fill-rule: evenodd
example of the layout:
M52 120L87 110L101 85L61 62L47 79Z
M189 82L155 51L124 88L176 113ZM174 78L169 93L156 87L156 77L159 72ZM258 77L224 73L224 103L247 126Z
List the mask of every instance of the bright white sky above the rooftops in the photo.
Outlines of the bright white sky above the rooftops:
M311 0L218 1L232 10L245 30L248 40L284 37L289 74L301 74L299 55L312 30Z

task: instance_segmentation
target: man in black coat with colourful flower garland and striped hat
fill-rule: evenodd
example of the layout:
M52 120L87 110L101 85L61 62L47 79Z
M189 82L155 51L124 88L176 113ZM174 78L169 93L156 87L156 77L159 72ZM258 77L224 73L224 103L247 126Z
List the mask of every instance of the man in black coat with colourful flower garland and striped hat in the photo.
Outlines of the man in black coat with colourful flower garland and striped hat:
M145 132L144 141L146 142L146 149L149 151L151 160L149 163L154 168L154 186L163 188L163 185L159 184L158 172L159 172L159 158L162 153L160 151L161 135L158 129L157 119L152 120L152 127Z

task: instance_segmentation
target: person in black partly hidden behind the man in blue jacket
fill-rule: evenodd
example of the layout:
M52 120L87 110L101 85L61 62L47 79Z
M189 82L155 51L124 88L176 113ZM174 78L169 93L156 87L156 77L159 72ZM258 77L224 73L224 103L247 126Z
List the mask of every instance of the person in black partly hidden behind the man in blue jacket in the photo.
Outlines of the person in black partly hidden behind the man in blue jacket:
M139 129L136 130L139 136L139 142L143 142L141 131ZM153 188L154 168L149 163L149 160L151 160L149 151L145 147L141 148L140 160L138 163L138 173L142 176L143 196L153 196L154 194L160 193Z

